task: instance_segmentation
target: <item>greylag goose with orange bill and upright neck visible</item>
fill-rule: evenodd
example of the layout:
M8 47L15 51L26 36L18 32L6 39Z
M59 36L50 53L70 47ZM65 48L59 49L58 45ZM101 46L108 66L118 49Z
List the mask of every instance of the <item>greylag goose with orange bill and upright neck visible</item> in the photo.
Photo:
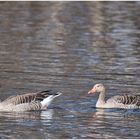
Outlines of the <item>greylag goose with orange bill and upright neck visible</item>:
M105 100L105 87L103 84L96 84L88 92L99 93L99 98L96 103L97 108L123 108L137 109L140 108L140 95L116 95L108 100Z

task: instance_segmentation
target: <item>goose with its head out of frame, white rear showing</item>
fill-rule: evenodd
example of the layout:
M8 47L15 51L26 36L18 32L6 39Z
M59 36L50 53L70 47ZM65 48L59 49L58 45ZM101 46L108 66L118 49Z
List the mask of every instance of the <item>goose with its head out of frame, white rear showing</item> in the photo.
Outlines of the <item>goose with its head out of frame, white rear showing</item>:
M0 111L33 111L44 110L52 102L52 100L62 93L50 90L38 93L27 93L23 95L10 96L6 100L0 102Z

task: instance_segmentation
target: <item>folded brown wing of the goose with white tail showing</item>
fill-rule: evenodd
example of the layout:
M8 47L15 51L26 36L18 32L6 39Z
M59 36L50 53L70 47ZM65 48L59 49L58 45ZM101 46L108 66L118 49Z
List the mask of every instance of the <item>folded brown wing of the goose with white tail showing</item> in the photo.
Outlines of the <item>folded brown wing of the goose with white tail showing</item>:
M23 103L30 103L32 101L42 101L50 95L56 95L56 93L53 93L51 90L41 91L38 93L26 93L23 95L10 96L3 102L7 104L17 105Z

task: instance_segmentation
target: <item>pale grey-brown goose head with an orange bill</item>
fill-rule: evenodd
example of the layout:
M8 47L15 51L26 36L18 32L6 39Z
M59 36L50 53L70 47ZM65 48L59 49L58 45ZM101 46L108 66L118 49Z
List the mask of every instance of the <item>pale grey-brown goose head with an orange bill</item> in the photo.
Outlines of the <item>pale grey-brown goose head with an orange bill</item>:
M91 90L89 90L88 94L91 93L102 93L105 92L105 87L103 84L96 84L93 86Z

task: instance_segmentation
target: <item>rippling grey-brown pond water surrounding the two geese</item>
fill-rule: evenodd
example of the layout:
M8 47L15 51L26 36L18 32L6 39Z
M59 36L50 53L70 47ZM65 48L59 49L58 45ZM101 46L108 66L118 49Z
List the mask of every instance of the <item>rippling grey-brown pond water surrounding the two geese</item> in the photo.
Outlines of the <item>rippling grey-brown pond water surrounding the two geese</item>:
M140 92L140 2L0 2L0 94L63 92L42 112L0 113L0 138L140 138L140 111L97 110Z

